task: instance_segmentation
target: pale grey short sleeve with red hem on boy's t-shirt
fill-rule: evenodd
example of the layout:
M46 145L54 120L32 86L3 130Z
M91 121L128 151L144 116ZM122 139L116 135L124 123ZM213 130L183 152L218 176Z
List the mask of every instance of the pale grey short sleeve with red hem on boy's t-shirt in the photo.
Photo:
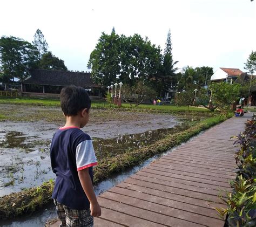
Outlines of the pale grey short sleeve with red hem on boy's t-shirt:
M97 159L94 153L92 141L85 140L80 142L76 149L77 169L95 162L97 162Z

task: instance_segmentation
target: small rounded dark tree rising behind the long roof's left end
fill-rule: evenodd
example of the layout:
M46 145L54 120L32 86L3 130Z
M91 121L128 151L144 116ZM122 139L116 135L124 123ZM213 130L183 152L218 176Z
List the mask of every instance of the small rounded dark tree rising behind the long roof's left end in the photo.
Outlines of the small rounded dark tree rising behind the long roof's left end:
M39 68L42 70L68 70L64 61L54 56L50 51L43 54L39 61Z

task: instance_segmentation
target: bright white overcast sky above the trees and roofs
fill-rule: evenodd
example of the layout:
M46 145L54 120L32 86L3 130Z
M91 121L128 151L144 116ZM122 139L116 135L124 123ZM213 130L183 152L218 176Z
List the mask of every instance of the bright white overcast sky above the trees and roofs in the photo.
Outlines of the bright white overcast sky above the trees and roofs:
M0 1L0 36L32 42L43 32L49 51L69 70L87 70L104 31L149 37L164 49L171 29L173 59L179 68L211 66L244 71L256 51L256 1L250 0L93 0Z

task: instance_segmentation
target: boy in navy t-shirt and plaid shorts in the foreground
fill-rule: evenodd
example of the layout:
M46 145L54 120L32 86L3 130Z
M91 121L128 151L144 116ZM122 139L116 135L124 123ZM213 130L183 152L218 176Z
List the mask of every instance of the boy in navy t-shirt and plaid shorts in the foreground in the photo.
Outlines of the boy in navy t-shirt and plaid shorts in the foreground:
M93 226L93 216L101 215L92 186L92 166L97 160L90 136L80 130L89 120L91 100L84 88L69 86L60 92L60 105L66 124L51 143L51 166L56 174L52 198L60 226Z

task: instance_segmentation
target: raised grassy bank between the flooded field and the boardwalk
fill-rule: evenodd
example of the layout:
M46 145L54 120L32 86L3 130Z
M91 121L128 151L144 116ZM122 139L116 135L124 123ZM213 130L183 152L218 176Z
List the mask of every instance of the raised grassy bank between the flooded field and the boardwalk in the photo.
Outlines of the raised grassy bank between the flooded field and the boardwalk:
M118 173L126 168L136 166L154 155L161 154L174 146L180 145L181 142L187 141L202 130L208 129L224 120L224 117L214 116L200 121L182 132L169 134L164 139L158 140L149 146L126 150L124 154L98 160L98 166L94 168L93 180L95 183L98 183L113 173ZM43 205L51 201L53 184L54 182L51 180L43 183L40 187L0 197L0 219L31 214L43 207Z

